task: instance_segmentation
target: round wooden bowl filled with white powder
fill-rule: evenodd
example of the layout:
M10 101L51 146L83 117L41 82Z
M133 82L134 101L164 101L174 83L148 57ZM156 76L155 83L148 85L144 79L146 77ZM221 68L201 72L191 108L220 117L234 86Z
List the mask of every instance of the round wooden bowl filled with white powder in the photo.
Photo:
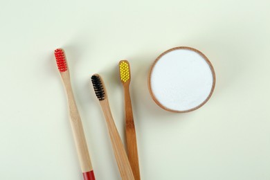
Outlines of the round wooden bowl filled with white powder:
M179 54L179 57L175 58L173 55L177 55L177 53ZM183 57L184 55L182 55L182 57L181 57L181 53L186 54L186 57ZM188 58L189 57L188 53L190 53L190 58ZM165 57L165 55L167 55L167 56ZM169 58L168 55L169 55L169 57L174 58L177 61L177 63L179 63L179 64L175 64L175 65L170 64L169 62L171 62L171 60L168 59ZM192 59L192 58L194 58L194 59ZM192 63L195 63L195 62L197 64L195 64L194 67L193 67L193 64L192 64L191 68L188 67L189 69L187 68L188 70L186 70L186 69L183 69L183 66L179 66L180 63L182 63L182 62L180 62L180 60L185 62L186 64L187 63L192 64ZM161 62L158 63L159 61L161 61ZM175 86L177 86L177 85L181 86L181 84L179 84L179 83L181 83L181 82L186 83L186 82L188 82L188 79L190 79L190 82L188 82L188 83L190 83L190 85L182 87L182 88L178 88L179 93L178 92L172 92L173 91L172 89L174 89L174 88L165 89L166 90L165 93L169 94L170 92L172 92L172 94L174 94L175 96L171 96L171 95L169 96L168 95L168 97L166 97L167 95L164 96L162 94L162 97L163 97L163 100L162 100L162 98L158 98L156 96L156 94L154 93L154 91L152 89L153 88L152 87L152 78L153 78L152 75L153 75L153 71L161 71L161 70L155 70L155 68L156 69L161 69L161 67L160 67L161 65L158 65L158 67L156 67L156 64L161 64L162 63L163 67L164 67L165 66L165 61L168 61L166 63L169 64L168 65L169 70L170 70L170 67L173 67L172 69L174 69L174 68L177 68L177 66L179 66L180 67L179 69L181 69L182 71L175 71L175 74L177 74L178 77L174 77L174 75L173 75L174 72L173 71L164 71L164 72L161 72L163 74L158 73L158 75L156 75L156 76L158 76L159 78L160 77L163 78L163 75L165 75L165 79L168 78L168 80L173 78L173 82L171 82L171 83L168 82L169 87L170 87L171 84L172 84L172 86L174 86L174 85ZM199 63L199 65L198 65L198 63ZM183 65L185 65L185 64L183 64ZM197 68L197 70L199 68L199 71L197 71L198 74L195 71L196 68ZM179 75L179 74L181 74L179 72L183 72L183 71L188 72L187 77L185 75ZM208 77L203 77L203 76L206 76L204 74L207 74ZM190 78L190 77L192 77L192 78ZM158 80L159 80L159 78L158 78ZM199 82L196 82L196 81L200 80L200 78L202 80L199 81ZM181 79L181 80L179 80L179 79ZM154 77L154 80L156 80L156 77ZM167 83L164 80L163 81L160 80L160 81L161 81L161 83L164 83L164 84ZM204 83L204 81L205 81L205 83ZM210 61L206 57L206 55L204 55L203 53L201 53L201 51L198 51L195 48L181 46L181 47L171 48L171 49L169 49L168 51L165 51L164 53L159 55L159 57L156 58L156 60L154 61L154 64L152 64L152 66L150 68L150 71L149 71L149 74L148 74L148 89L150 91L150 95L152 96L154 102L156 102L156 104L159 105L159 107L161 107L161 108L163 108L163 109L165 109L167 111L171 111L171 112L184 113L184 112L194 111L195 109L198 109L199 107L206 104L206 102L210 99L210 97L212 96L213 91L215 89L215 81L216 81L215 71L213 69L212 64L210 63ZM167 85L168 85L168 83L167 83ZM185 83L183 83L183 85ZM163 87L163 84L161 84L161 86L159 86L159 87L161 87L162 89L166 88L166 87ZM196 87L196 88L195 89L187 89L188 87ZM184 92L181 92L182 89L183 89ZM195 96L194 100L192 98L190 98L190 100L188 100L188 99L185 100L185 96L183 94L188 93L189 96L190 96L190 93L193 93L195 91L199 92L199 93L202 93L201 91L206 91L206 93L204 95L201 95L201 96L195 94L194 95ZM183 93L183 94L181 94L181 93ZM168 98L168 100L165 99L165 98ZM175 98L175 99L173 99L173 98ZM168 105L168 104L170 104L170 102L172 102L171 104L174 103L178 107L174 108L174 107L172 107L172 105ZM188 107L188 105L191 104L191 102L194 102L194 103L196 102L196 103L194 105L190 105L190 107ZM187 105L185 105L184 103L186 103ZM186 108L180 108L181 106L186 107Z

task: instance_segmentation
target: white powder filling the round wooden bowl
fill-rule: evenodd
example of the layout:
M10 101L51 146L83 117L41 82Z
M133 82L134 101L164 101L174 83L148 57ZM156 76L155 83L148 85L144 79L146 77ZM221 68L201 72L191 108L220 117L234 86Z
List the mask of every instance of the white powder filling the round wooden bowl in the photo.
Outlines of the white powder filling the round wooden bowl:
M210 66L199 53L177 49L163 55L151 74L151 89L163 107L187 111L208 98L213 85Z

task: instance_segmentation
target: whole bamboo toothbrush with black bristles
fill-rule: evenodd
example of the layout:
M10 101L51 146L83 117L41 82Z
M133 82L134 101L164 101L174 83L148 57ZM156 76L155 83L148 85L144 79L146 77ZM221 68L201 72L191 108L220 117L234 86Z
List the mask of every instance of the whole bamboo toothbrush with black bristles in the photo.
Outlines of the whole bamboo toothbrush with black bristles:
M116 157L116 162L120 171L120 175L123 180L134 180L134 175L132 174L132 168L130 167L129 160L127 159L125 147L121 141L116 125L114 124L114 118L111 115L111 109L109 107L109 100L105 84L100 75L98 74L92 75L91 80L93 84L93 89L96 93L98 100L100 101L102 111L107 121L109 136L111 138L111 144L114 149L114 156Z

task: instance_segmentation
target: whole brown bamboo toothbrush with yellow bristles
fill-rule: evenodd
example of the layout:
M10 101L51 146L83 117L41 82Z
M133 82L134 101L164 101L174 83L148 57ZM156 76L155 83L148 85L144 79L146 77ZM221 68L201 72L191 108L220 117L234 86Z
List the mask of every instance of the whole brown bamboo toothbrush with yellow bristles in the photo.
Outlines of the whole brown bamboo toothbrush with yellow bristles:
M127 142L127 156L132 166L132 171L136 180L140 180L140 168L138 164L138 149L136 141L136 130L132 112L132 100L129 94L129 83L131 79L130 66L127 60L119 62L120 80L125 93L125 136Z

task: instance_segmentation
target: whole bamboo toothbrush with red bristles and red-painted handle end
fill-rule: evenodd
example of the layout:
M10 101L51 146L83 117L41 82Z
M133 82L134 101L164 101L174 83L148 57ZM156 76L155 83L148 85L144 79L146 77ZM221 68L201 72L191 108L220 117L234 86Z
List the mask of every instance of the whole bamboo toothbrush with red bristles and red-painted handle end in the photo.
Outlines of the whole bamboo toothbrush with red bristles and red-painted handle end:
M70 123L73 131L73 137L75 140L75 145L77 148L80 167L82 169L82 175L84 180L95 180L93 174L93 168L91 165L91 160L88 152L87 141L84 137L84 130L82 127L82 121L80 120L80 114L78 112L77 106L75 104L75 99L71 89L71 80L69 75L69 68L66 63L66 57L64 51L61 48L55 50L55 59L60 71L62 82L66 89L66 96L69 104L69 117Z

